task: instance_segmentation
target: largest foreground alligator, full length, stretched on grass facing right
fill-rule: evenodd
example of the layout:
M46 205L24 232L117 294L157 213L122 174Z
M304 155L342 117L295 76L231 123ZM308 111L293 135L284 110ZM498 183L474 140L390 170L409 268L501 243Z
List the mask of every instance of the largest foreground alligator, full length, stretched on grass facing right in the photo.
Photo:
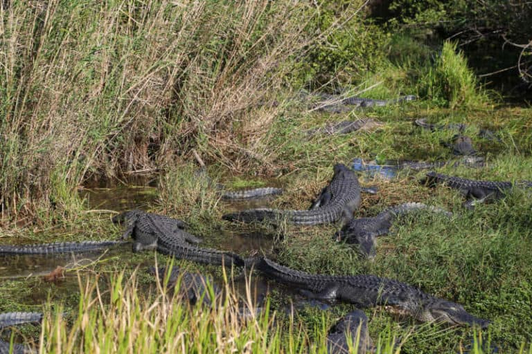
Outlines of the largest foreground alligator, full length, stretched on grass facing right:
M481 328L490 323L487 319L470 315L460 304L428 295L419 288L392 279L369 274L310 274L287 268L266 257L250 257L245 263L269 278L300 288L303 295L314 299L344 301L358 308L388 306L420 322L477 325Z

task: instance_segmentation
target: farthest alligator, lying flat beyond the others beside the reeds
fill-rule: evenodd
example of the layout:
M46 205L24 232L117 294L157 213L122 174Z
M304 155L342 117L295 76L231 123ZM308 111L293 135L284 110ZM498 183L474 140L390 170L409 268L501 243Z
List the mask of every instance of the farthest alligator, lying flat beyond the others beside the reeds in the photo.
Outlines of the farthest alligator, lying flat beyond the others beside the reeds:
M351 108L348 106L355 106L355 108L381 107L398 102L417 100L415 95L401 96L391 100L373 100L372 98L362 98L356 96L342 98L337 95L321 95L321 97L322 99L326 99L326 101L319 102L316 106L316 109L330 113L343 113L345 111L351 110Z

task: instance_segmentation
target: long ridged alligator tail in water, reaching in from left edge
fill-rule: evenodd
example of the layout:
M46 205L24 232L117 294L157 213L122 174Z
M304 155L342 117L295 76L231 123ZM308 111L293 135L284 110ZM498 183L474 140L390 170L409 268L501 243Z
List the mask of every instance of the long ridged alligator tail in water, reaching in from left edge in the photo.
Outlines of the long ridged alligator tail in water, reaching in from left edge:
M0 256L14 254L57 254L77 253L96 250L105 250L124 241L80 241L80 242L55 242L37 245L0 245Z

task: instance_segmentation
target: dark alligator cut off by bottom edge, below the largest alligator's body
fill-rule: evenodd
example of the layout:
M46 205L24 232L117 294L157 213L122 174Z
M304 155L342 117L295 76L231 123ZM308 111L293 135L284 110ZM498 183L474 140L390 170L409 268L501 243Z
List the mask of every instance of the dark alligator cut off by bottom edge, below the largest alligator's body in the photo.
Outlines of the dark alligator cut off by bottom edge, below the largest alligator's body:
M358 354L366 354L368 351L371 351L372 344L368 333L368 317L364 311L354 310L339 319L339 321L330 328L327 335L327 353L351 353L347 342L348 338L353 341L351 347L357 348Z

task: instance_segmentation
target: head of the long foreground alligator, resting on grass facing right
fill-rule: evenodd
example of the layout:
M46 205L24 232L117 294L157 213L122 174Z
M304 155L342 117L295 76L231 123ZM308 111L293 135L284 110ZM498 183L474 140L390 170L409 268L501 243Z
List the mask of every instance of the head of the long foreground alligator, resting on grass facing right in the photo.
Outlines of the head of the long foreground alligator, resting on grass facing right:
M418 314L418 319L423 322L436 321L455 325L479 326L487 328L490 321L481 319L468 313L463 306L452 301L433 299L424 306Z

